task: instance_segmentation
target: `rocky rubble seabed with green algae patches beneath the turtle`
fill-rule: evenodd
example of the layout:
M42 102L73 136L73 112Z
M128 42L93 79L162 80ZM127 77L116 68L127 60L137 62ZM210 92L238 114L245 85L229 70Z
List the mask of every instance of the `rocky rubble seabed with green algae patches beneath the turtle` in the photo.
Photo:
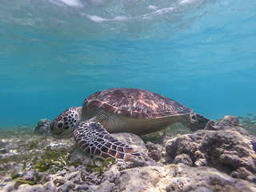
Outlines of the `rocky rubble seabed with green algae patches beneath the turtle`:
M158 143L143 138L145 143L134 134L114 137L144 159L91 159L72 138L1 137L0 190L256 191L256 138L234 116L210 121L193 133L162 135Z

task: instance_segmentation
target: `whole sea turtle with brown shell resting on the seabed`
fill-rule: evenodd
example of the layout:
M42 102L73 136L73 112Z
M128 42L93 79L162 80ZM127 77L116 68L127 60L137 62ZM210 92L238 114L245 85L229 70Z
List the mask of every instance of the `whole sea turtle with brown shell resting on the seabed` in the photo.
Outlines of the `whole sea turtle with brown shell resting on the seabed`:
M82 106L70 107L50 125L54 138L70 138L87 154L130 161L141 155L118 141L112 133L149 134L182 122L191 130L202 129L209 120L170 98L148 90L116 88L87 97Z

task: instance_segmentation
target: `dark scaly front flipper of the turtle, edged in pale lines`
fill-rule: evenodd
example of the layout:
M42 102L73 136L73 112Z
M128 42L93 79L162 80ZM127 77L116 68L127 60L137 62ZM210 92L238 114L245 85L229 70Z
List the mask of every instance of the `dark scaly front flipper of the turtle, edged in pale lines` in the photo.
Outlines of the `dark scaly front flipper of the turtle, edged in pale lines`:
M74 140L86 154L92 156L121 158L125 161L130 161L131 157L141 157L132 147L111 136L99 122L81 122L74 130Z

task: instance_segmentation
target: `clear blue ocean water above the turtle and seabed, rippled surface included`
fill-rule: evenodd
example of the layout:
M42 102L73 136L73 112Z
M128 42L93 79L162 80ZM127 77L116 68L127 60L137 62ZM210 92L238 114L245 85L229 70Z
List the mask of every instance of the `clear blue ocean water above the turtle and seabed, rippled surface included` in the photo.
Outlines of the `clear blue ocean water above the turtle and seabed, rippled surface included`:
M97 90L154 91L207 118L256 114L254 0L0 0L0 126Z

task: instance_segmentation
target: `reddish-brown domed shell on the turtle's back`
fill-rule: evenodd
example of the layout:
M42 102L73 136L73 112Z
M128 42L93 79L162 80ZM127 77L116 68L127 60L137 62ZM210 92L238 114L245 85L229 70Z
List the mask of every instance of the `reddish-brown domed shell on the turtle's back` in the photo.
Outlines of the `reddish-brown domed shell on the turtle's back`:
M170 98L132 88L100 90L86 98L82 107L84 110L101 108L130 118L161 118L192 112Z

